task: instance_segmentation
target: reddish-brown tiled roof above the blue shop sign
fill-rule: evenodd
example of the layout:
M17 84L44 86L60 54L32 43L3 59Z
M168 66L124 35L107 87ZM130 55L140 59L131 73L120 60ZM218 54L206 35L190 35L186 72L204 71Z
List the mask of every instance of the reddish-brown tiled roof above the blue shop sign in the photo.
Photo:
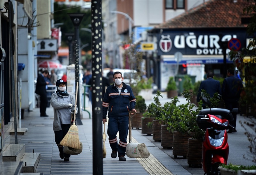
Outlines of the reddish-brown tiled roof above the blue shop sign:
M251 5L245 0L209 0L155 28L215 28L246 27L241 23L243 9Z

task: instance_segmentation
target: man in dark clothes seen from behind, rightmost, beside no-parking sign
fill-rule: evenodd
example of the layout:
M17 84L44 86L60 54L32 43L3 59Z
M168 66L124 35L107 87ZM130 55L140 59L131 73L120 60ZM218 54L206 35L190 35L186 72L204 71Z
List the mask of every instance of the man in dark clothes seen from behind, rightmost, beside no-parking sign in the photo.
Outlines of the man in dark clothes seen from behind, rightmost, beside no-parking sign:
M222 83L222 98L225 102L225 107L228 110L238 108L238 101L241 91L243 89L242 81L234 76L234 69L229 68L227 71L228 77L223 80ZM230 125L234 129L229 129L228 133L236 132L236 113L232 113L234 121L230 122Z

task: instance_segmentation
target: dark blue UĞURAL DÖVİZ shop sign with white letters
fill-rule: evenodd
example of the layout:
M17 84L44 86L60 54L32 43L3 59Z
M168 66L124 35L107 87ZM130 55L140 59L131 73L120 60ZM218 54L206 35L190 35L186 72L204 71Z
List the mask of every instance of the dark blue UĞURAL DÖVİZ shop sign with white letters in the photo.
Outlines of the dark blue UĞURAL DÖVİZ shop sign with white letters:
M218 33L218 31L173 31L162 33L161 35L159 34L158 55L173 55L177 51L181 52L183 55L223 55L223 50L219 44L221 41L229 41L231 39L238 40L237 36L246 38L245 30L239 32L222 32L221 37ZM240 47L241 46L243 45L240 44ZM226 53L229 51L230 50L227 49Z

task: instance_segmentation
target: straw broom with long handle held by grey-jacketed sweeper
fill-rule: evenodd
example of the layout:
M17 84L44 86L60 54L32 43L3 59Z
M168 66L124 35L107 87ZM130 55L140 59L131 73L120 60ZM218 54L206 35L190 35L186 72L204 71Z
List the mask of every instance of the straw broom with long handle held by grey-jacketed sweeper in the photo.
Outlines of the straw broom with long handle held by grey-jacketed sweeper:
M77 100L77 90L78 90L78 82L76 82L76 100ZM60 145L68 146L74 149L81 149L79 136L78 136L78 128L75 124L75 121L76 121L76 102L75 102L73 125L70 126L68 133L61 140Z

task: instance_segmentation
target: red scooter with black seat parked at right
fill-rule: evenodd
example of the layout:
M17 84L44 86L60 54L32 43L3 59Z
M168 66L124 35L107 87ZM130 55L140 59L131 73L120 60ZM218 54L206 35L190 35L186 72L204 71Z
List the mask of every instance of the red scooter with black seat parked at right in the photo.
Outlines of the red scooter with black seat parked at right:
M210 106L207 98L203 98L203 103ZM219 175L219 165L227 164L229 148L226 129L233 128L229 125L229 121L234 120L232 113L235 112L237 113L238 109L230 111L222 108L209 108L201 110L197 115L197 125L205 130L202 149L204 175Z

